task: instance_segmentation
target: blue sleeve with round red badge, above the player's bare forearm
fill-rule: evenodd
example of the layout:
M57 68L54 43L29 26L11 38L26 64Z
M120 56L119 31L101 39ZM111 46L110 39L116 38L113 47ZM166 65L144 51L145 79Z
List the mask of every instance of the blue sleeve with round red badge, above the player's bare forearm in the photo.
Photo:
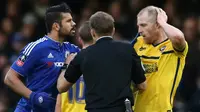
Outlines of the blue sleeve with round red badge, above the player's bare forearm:
M34 48L34 43L29 43L20 52L18 59L12 64L11 68L25 77L34 69L34 65L39 59L37 47Z

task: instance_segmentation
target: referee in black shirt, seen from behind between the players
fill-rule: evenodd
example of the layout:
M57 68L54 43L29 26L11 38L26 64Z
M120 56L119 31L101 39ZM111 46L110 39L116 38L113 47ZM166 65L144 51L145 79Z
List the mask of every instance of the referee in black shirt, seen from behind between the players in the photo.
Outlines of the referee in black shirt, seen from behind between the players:
M111 15L96 12L89 24L96 43L79 52L70 64L66 63L68 68L61 73L57 88L61 93L69 90L83 74L88 112L125 112L126 98L133 105L131 81L140 90L146 88L140 58L131 44L112 39L115 28Z

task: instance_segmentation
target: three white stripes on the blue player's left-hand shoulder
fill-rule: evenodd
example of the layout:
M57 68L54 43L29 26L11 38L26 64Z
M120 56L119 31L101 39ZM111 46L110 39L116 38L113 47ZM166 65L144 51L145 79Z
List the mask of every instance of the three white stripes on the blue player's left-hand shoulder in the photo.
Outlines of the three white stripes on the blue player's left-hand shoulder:
M47 40L47 38L43 37L43 38L38 39L35 42L29 43L27 47L24 49L23 54L28 56L36 45L38 45L41 42L44 42L45 40Z

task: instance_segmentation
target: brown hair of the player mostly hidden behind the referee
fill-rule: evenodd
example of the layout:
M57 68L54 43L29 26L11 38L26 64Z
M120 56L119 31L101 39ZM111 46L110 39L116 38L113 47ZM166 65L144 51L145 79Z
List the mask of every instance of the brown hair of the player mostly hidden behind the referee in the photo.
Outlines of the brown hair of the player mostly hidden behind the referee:
M79 28L79 35L83 42L93 41L92 35L90 33L89 21L84 22Z

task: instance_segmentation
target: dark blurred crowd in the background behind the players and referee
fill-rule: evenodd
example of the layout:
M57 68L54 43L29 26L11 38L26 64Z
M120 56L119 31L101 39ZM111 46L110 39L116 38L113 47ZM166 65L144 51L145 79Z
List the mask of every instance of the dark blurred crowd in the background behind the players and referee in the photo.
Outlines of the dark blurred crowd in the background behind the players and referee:
M12 112L20 98L3 83L7 70L27 43L46 34L46 8L61 2L71 7L77 28L94 12L108 12L115 19L114 38L129 41L137 34L139 10L148 5L163 8L189 44L174 112L200 112L200 0L0 0L0 112ZM80 45L76 37L69 41Z

